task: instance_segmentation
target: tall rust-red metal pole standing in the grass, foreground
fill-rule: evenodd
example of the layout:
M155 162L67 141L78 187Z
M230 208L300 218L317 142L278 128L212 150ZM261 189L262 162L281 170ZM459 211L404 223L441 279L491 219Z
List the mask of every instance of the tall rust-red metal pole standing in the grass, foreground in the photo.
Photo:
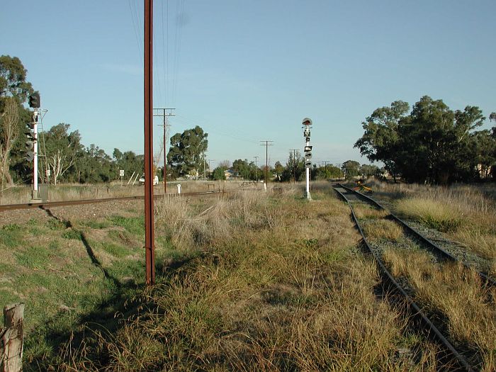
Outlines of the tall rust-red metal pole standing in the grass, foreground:
M147 286L155 283L153 220L153 0L145 0L145 266Z

